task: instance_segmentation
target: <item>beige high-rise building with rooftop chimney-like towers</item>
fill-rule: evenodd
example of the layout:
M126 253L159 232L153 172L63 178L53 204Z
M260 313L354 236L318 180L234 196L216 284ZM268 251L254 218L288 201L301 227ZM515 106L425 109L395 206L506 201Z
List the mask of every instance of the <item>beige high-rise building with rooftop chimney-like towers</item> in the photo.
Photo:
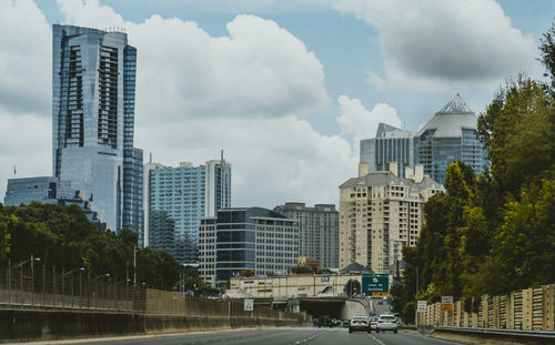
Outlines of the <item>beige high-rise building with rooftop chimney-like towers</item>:
M424 203L445 191L422 165L406 168L406 179L396 175L397 163L390 170L369 174L361 163L359 177L340 185L340 267L359 263L385 273L402 260L403 246L416 244Z

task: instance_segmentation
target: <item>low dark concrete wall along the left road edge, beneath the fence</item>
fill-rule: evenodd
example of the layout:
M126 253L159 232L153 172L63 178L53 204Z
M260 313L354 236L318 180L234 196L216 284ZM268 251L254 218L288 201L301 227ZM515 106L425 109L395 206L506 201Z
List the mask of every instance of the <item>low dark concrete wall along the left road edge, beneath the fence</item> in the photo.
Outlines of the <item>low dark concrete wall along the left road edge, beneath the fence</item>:
M0 342L131 335L173 331L299 326L301 319L141 313L0 310Z

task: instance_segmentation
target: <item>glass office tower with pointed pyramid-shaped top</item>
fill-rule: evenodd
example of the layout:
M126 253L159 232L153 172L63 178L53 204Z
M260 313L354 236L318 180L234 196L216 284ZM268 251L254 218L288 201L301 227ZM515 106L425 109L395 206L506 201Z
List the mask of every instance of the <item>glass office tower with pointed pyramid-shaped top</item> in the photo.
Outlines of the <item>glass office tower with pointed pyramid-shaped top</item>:
M415 135L417 164L424 173L443 183L451 162L462 161L476 174L486 164L486 152L476 131L476 114L457 93Z

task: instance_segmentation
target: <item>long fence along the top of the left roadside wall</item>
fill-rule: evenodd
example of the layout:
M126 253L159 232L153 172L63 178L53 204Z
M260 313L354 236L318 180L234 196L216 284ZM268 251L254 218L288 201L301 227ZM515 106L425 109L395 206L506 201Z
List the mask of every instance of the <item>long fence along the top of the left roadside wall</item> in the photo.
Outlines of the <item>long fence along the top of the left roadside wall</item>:
M205 315L302 319L303 315L254 306L245 312L239 301L203 300L183 293L133 286L130 280L108 274L59 270L28 260L0 266L0 308L140 312L165 315Z

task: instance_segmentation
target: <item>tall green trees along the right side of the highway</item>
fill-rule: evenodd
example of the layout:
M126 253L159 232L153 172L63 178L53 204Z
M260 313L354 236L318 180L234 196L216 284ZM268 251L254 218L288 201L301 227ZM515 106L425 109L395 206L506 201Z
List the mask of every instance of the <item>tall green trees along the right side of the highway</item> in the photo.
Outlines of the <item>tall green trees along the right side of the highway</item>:
M448 165L446 194L425 206L408 267L392 288L393 307L413 318L414 302L442 295L476 311L481 294L503 294L555 281L555 24L541 45L551 84L521 74L507 81L478 118L490 166L474 176Z

